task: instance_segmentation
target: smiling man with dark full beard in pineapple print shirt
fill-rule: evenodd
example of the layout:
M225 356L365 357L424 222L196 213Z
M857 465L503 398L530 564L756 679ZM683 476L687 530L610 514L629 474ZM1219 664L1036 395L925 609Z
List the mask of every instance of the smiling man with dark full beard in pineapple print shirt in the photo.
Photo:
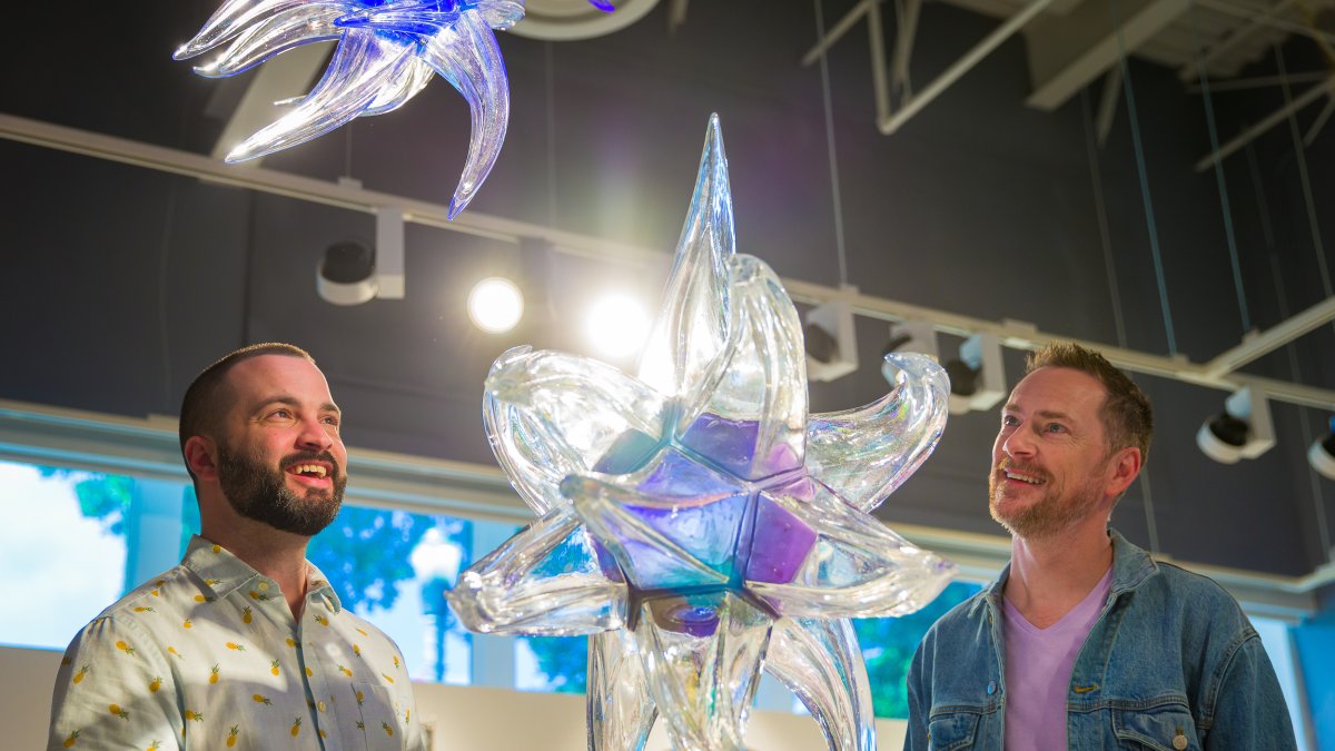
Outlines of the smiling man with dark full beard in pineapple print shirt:
M347 482L311 357L236 350L182 404L200 533L65 651L48 748L425 748L398 647L306 560Z

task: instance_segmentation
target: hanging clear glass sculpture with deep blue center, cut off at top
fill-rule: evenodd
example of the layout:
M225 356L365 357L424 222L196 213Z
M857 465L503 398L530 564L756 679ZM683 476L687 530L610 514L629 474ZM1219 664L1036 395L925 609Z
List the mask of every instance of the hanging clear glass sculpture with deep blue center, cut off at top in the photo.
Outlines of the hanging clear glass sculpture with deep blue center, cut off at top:
M280 151L352 120L383 115L441 73L469 102L469 158L450 200L455 218L501 154L510 86L491 29L523 17L523 0L227 0L174 55L194 57L231 43L195 72L235 76L274 55L338 40L328 68L291 112L242 142L228 163Z

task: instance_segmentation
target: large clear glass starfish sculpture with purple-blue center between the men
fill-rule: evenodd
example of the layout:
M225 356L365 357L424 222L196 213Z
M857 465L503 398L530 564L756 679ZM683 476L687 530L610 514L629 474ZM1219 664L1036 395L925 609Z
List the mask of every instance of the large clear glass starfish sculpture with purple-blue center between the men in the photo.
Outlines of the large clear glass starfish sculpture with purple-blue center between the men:
M930 454L945 373L889 355L893 390L806 413L801 325L778 278L734 253L710 118L666 302L638 377L517 347L486 382L497 458L539 514L449 595L485 633L589 633L589 747L740 750L760 671L830 748L874 748L850 617L929 603L953 565L868 512Z

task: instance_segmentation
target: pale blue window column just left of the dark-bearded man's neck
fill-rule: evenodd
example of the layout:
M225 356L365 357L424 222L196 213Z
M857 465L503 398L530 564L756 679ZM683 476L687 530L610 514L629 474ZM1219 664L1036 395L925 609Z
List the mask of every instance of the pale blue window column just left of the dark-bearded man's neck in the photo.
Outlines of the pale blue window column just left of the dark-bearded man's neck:
M168 480L135 480L125 513L125 591L180 563L186 486Z

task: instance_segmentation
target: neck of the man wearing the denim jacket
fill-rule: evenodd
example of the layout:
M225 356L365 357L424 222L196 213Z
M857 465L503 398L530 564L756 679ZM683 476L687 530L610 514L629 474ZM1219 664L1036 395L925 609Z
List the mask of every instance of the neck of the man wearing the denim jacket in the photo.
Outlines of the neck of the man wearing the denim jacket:
M1004 595L1037 628L1061 620L1112 567L1107 525L1084 524L1040 540L1011 539Z

